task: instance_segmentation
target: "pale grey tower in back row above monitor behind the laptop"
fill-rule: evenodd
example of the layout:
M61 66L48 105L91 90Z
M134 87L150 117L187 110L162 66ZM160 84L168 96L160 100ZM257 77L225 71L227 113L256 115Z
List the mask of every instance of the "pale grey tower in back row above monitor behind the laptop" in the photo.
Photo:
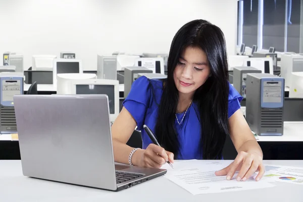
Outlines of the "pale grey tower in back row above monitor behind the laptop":
M97 56L97 78L117 80L116 56Z

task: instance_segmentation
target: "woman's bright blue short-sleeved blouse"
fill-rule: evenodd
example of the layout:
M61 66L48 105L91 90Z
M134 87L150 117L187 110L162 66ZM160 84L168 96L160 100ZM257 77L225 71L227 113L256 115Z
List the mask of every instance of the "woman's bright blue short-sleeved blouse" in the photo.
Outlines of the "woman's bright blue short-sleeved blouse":
M153 90L151 86L153 86ZM137 130L140 130L142 134L143 149L148 144L153 143L143 129L143 125L145 124L155 131L158 116L157 104L160 104L162 93L163 83L161 80L147 79L145 76L141 76L133 82L131 90L122 104L137 122ZM228 118L240 109L241 100L242 96L229 84ZM175 119L175 127L181 145L181 155L177 157L178 160L200 159L203 156L200 148L201 128L196 112L198 112L196 105L192 103L180 125ZM176 114L179 122L182 120L184 113Z

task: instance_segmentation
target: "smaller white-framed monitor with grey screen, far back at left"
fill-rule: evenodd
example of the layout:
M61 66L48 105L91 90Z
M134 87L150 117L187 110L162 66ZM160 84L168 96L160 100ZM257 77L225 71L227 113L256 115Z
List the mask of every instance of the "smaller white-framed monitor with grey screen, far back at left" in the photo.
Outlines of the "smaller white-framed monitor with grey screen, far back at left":
M54 59L53 84L57 85L57 74L83 73L82 60Z

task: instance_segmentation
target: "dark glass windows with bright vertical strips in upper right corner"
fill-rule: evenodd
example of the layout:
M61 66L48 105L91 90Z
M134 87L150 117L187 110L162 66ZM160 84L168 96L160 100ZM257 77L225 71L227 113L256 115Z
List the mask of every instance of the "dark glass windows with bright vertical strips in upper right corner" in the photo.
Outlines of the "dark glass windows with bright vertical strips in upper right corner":
M303 1L238 1L237 45L275 47L276 52L303 51Z

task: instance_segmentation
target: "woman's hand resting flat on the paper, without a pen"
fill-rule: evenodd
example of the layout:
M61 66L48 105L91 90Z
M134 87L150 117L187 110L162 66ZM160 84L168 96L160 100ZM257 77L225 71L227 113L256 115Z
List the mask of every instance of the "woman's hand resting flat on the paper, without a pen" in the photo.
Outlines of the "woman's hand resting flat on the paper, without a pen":
M216 171L215 174L217 176L227 175L226 179L230 180L236 171L239 171L236 177L237 181L245 181L256 171L259 171L259 174L256 176L256 181L259 181L265 173L263 159L256 153L241 151L229 166L220 171Z

